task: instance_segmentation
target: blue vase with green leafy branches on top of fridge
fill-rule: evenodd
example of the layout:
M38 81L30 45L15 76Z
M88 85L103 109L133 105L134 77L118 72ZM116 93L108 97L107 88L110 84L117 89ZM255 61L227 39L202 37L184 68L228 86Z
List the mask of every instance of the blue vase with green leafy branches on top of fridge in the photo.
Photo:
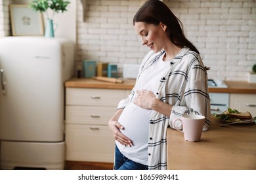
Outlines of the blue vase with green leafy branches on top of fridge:
M45 12L47 17L47 25L45 29L45 37L54 37L53 16L55 13L67 11L70 1L65 0L35 0L30 3L30 8L35 11ZM49 10L52 10L49 16Z

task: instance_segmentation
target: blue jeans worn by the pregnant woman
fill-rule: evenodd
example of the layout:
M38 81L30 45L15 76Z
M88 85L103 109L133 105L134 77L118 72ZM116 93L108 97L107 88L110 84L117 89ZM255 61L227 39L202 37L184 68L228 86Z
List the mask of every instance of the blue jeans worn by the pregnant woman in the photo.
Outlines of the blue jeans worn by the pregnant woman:
M140 163L137 163L135 161L132 161L131 159L126 158L121 154L119 149L116 146L115 150L115 170L147 170L147 165L142 165Z

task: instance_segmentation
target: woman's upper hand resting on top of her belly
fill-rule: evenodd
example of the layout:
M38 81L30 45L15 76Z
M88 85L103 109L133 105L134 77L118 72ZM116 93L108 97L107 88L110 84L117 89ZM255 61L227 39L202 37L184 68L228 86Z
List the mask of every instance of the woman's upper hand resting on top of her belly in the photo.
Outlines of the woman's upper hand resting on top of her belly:
M157 99L156 95L148 90L137 90L136 93L138 95L133 103L141 108L152 109L152 105L154 105L154 101Z

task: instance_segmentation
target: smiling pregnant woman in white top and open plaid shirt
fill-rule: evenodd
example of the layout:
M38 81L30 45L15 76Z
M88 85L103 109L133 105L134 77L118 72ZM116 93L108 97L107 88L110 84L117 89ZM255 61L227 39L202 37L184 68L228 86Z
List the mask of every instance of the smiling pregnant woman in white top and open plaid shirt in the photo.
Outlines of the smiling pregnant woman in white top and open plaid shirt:
M133 19L142 45L136 84L108 125L116 139L114 169L167 169L167 127L182 114L211 114L207 69L182 24L161 1L149 0Z

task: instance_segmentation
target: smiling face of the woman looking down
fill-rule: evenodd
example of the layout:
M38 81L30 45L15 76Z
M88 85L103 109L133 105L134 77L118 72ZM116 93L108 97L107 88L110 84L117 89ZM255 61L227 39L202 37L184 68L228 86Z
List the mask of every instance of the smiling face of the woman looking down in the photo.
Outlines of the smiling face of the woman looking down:
M154 52L160 52L165 48L167 41L167 33L165 33L166 25L147 24L146 22L135 22L135 30L142 39L142 45L146 44Z

